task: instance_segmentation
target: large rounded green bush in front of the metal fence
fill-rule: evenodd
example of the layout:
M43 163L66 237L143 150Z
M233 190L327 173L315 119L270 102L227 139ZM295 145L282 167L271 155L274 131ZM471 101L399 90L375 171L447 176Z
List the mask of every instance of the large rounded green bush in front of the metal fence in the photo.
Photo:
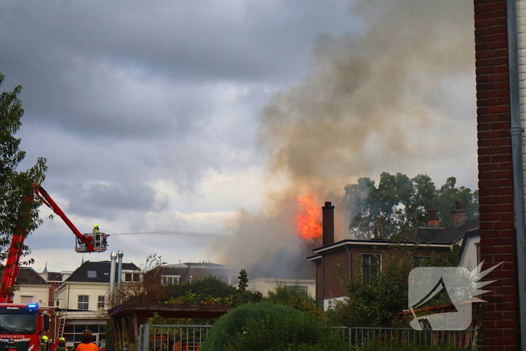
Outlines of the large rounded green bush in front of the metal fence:
M315 317L269 303L239 306L221 316L203 351L347 351L346 343Z

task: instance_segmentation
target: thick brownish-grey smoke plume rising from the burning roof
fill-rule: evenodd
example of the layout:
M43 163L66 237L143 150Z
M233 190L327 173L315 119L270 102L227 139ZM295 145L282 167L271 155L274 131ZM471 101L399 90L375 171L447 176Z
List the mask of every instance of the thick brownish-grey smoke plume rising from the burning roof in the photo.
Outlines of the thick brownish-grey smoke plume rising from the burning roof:
M341 194L358 177L435 152L424 135L433 119L451 118L443 108L448 84L474 72L472 6L467 0L360 0L349 8L361 32L318 36L304 82L273 96L260 117L259 146L269 172L287 179L286 189L269 194L267 213L240 215L226 247L229 263L247 267L303 255L288 221L306 188L321 207L329 192ZM337 239L348 235L346 214L339 215Z

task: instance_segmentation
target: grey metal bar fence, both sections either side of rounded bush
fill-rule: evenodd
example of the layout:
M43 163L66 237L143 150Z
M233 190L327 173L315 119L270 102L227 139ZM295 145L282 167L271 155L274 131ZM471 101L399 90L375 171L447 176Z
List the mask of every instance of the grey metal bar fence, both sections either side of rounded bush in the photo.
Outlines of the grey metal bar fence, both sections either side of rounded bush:
M211 325L150 325L139 328L138 351L199 351ZM394 346L431 345L474 348L475 329L442 331L412 328L334 327L349 344L349 350Z

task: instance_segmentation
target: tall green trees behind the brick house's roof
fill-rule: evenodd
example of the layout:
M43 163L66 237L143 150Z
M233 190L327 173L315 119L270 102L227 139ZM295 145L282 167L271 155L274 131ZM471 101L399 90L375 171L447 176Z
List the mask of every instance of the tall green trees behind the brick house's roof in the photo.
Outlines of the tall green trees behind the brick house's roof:
M376 184L370 178L360 178L347 185L341 205L349 211L349 229L360 238L368 238L375 227L386 238L416 226L427 225L429 211L436 209L441 226L453 224L455 200L466 212L466 219L478 216L478 190L456 186L450 177L440 188L427 175L409 178L402 173L380 175Z

